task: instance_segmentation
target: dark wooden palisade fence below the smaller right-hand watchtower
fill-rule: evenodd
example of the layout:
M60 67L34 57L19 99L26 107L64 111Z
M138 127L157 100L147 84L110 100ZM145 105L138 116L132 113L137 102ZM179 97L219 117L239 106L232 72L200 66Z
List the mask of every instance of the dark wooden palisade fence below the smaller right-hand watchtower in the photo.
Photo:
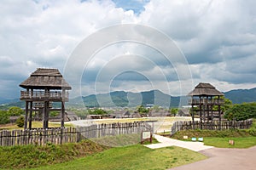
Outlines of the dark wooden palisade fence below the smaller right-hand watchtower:
M180 130L189 129L204 129L204 130L228 130L228 129L245 129L251 127L253 124L253 119L248 119L245 121L213 121L213 122L200 122L192 121L188 122L174 122L171 127L171 135L177 133Z

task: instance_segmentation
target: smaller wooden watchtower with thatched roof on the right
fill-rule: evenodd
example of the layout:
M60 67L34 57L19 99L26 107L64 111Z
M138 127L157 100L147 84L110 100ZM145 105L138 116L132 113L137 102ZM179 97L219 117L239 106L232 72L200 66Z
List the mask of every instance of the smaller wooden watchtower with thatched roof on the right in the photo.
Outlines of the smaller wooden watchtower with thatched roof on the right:
M191 115L193 127L195 128L195 113L199 115L201 128L202 122L212 122L218 120L221 122L221 109L220 106L224 104L224 96L210 83L200 82L195 89L188 94L191 96L189 104L191 105Z

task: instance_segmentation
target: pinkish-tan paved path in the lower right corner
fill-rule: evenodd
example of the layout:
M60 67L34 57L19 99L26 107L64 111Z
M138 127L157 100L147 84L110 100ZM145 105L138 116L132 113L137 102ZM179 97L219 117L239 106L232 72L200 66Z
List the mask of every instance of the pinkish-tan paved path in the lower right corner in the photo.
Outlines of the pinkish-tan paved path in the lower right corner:
M197 161L172 170L255 170L256 169L256 146L249 149L224 149L212 148L201 150L202 154L209 158Z

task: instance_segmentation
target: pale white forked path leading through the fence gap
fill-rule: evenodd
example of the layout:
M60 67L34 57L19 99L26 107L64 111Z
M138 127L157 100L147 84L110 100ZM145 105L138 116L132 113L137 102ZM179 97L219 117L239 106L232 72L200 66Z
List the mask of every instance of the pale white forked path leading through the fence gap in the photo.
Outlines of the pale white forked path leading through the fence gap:
M188 142L188 141L181 141L177 139L170 139L166 138L157 134L154 134L154 138L157 139L160 143L158 144L148 144L146 145L148 148L156 149L156 148L163 148L167 146L179 146L182 148L186 148L189 150L194 151L201 151L213 148L212 146L204 145L202 142Z

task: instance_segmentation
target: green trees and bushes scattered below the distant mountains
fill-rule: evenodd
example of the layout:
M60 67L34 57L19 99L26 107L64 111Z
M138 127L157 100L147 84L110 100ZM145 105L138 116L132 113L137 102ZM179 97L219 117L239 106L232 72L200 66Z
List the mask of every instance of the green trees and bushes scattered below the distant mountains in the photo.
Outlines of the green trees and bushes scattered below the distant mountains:
M147 108L143 105L138 105L136 110L141 115L147 115L149 111L160 111L163 108L160 106L154 105L152 108ZM215 108L217 109L217 108ZM214 108L213 108L214 110ZM256 102L253 103L243 103L243 104L232 104L230 99L224 98L224 105L221 106L221 110L224 113L224 118L228 120L236 120L242 121L249 118L256 118ZM84 110L84 111L73 111L80 116L81 118L86 118L87 115L107 115L111 111L104 111L100 108L95 108L93 110ZM178 113L178 108L170 108L167 110L171 116L176 116ZM24 114L20 107L12 106L9 110L0 110L0 124L7 124L10 122L10 116L20 116L19 120L17 120L17 124L23 121L24 122ZM58 111L52 111L50 116L58 115ZM22 120L23 119L23 120ZM20 126L22 123L20 124ZM19 126L19 125L18 125Z

